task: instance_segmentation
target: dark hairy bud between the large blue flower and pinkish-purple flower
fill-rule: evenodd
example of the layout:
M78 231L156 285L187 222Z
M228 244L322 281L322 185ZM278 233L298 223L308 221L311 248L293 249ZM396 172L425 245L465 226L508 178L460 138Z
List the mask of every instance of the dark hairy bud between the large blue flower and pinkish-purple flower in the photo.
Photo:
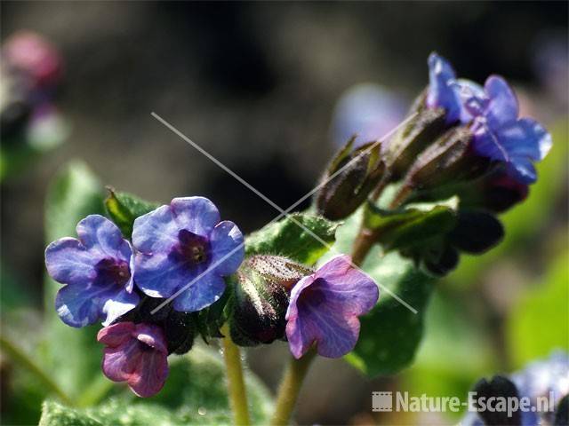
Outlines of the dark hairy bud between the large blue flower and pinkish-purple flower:
M284 338L293 285L312 271L281 256L251 256L237 272L229 331L240 346Z

